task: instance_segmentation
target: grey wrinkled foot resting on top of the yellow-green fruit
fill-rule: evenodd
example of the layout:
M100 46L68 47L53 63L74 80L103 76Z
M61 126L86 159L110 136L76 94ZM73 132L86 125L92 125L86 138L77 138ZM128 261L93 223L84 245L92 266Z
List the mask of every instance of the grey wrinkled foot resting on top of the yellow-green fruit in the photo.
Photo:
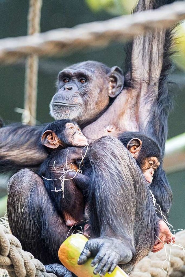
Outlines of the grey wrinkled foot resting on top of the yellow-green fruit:
M91 256L95 257L91 266L97 265L93 273L96 275L100 272L99 275L104 276L107 271L112 273L118 263L128 263L132 259L132 251L119 239L97 238L86 242L78 265L85 263Z

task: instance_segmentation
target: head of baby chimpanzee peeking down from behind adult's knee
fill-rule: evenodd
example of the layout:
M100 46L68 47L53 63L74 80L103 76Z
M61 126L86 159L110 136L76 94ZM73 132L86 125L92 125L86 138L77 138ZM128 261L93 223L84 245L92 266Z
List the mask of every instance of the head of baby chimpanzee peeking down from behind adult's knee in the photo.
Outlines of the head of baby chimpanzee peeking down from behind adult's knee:
M158 144L139 132L124 132L119 139L136 160L147 182L151 183L154 171L162 161Z

